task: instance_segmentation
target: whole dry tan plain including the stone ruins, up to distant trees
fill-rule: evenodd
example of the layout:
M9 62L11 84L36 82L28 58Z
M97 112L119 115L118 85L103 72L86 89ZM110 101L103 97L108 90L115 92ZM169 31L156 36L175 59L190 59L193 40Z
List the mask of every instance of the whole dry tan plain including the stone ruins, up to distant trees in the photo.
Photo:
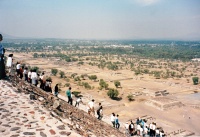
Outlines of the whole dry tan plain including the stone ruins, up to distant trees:
M9 54L9 53L6 53ZM148 123L154 121L167 133L182 132L182 135L195 133L200 136L200 86L193 85L191 73L196 73L200 77L199 65L194 66L191 62L170 62L172 65L179 64L179 67L187 66L187 71L180 78L156 78L150 74L135 75L130 66L122 66L118 70L109 70L99 68L88 64L88 60L83 59L84 64L77 62L65 62L57 58L33 58L33 53L13 53L14 62L20 61L26 66L37 66L40 71L45 72L46 77L52 78L52 88L59 83L61 95L65 96L68 89L66 83L70 83L72 91L79 91L83 96L83 102L87 103L94 98L96 106L102 102L104 107L103 120L109 123L109 117L112 112L119 114L121 127L122 123L136 118L146 118ZM94 56L90 56L92 58ZM98 60L100 56L95 56ZM109 58L110 61L120 61L117 57ZM135 59L137 60L137 59ZM140 61L150 61L140 59ZM165 71L165 60L151 60L157 67L148 68L152 70ZM169 63L169 62L168 62ZM140 67L145 67L139 63ZM161 64L161 65L160 65ZM198 62L197 62L198 64ZM155 65L155 66L156 66ZM159 67L162 66L162 67ZM60 78L59 72L56 76L51 74L51 69L57 69L65 73L64 78ZM167 68L170 70L170 68ZM177 70L179 72L179 70ZM87 77L81 79L81 82L88 82L92 87L85 89L80 86L78 81L71 77L72 74L96 75L97 80L93 81ZM115 88L114 81L119 81L121 86L118 100L112 100L107 95L107 90L99 89L99 80L103 79L110 88ZM129 101L127 96L132 95L133 101ZM179 135L181 135L179 134Z

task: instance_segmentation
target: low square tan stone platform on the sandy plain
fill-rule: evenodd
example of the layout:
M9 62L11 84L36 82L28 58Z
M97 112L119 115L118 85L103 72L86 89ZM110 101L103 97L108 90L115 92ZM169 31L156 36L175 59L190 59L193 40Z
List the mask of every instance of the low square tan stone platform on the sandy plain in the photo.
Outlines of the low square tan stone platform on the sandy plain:
M152 106L159 110L169 110L182 107L184 104L170 97L155 97L145 102L146 105Z

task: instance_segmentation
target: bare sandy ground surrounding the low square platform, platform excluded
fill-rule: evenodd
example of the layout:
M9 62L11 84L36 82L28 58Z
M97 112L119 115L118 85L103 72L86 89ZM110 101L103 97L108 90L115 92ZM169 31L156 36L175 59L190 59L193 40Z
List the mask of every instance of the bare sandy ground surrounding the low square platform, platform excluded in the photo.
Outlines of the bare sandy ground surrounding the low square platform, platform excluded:
M26 57L26 58L25 58ZM80 91L83 95L84 103L87 103L90 99L94 98L96 100L95 104L102 102L104 106L104 120L109 123L109 117L112 112L119 114L119 120L121 123L125 123L127 120L134 119L142 116L149 116L153 119L150 120L157 123L157 126L163 127L165 132L173 132L179 129L184 129L189 132L194 132L195 135L200 136L200 109L193 108L191 105L195 104L200 106L200 98L190 98L189 96L194 93L194 91L200 92L199 85L193 85L191 82L188 83L186 79L155 79L149 75L135 76L130 70L102 70L96 66L89 66L87 64L83 66L78 66L73 63L66 63L63 65L56 64L55 61L51 59L33 59L29 54L14 54L15 60L20 60L25 64L30 64L31 66L38 66L40 69L45 70L46 76L51 76L51 68L56 68L65 72L66 76L69 77L72 73L97 75L98 79L104 79L109 87L114 88L113 81L119 80L121 82L122 88L118 88L120 92L120 97L122 100L116 101L111 100L105 90L98 89L98 82L93 82L91 80L85 80L95 89L87 90L83 87L77 86L77 83L70 79L66 82L66 79L59 78L57 76L51 76L53 79L52 87L56 83L70 83L72 91ZM65 91L68 87L60 87L62 92L60 96L65 96ZM184 106L177 107L175 109L170 109L167 111L161 111L154 107L148 106L145 102L152 98L151 94L155 91L167 90L170 93L170 98L181 101ZM135 97L135 101L129 102L127 100L127 95L135 92L148 93L146 95L141 95ZM199 93L198 93L199 94ZM83 107L84 109L84 107ZM123 126L123 124L121 124Z

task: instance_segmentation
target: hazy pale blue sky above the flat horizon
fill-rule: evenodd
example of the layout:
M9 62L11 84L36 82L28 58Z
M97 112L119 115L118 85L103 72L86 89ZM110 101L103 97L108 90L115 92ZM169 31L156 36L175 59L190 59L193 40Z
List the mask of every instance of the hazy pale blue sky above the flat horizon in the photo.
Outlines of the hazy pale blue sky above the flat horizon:
M200 40L200 0L0 0L17 37Z

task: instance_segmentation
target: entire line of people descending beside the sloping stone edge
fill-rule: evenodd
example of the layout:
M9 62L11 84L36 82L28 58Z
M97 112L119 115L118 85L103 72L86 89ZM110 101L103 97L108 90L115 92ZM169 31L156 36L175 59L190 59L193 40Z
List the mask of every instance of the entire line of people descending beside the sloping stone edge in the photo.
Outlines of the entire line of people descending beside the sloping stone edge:
M3 36L0 34L0 79L6 78L6 69L5 69L5 60L4 60L4 53L5 49L3 48L1 41L3 40ZM9 54L7 58L6 67L8 69L8 76L11 75L11 70L13 67L13 54ZM41 74L38 74L36 69L28 69L28 67L21 65L20 62L16 63L16 74L19 78L24 79L25 81L38 86L43 89L46 92L52 93L51 88L51 79L45 79L44 75L45 73L42 72ZM70 105L73 105L73 98L72 98L72 92L71 87L66 91L66 96L68 98L68 103ZM59 94L59 88L58 84L55 85L54 88L54 95L58 96ZM97 119L101 120L103 118L103 106L101 103L98 104L98 107L95 111L94 108L94 102L95 100L92 99L87 104L87 113L91 116L95 116L95 112L97 115ZM75 101L75 107L79 107L79 104L83 103L82 98L79 97ZM118 119L119 115L112 113L111 114L111 123L113 128L119 129L120 128L120 122ZM141 136L141 137L163 137L165 136L164 131L162 128L156 127L156 123L152 122L150 124L147 124L146 119L140 119L138 118L136 122L133 121L126 122L125 124L125 132L127 136Z

